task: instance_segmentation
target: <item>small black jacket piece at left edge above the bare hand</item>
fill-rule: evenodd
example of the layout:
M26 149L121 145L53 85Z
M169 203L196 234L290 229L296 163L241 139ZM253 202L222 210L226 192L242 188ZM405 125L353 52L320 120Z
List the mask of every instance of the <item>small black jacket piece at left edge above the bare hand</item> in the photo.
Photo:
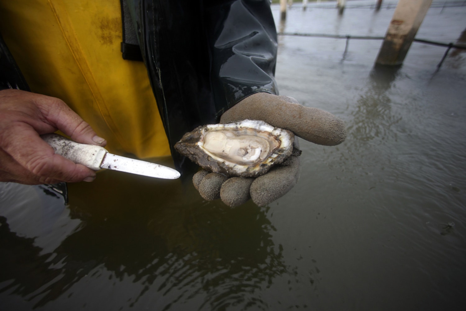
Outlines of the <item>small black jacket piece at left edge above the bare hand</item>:
M0 90L6 89L30 91L13 55L0 35Z

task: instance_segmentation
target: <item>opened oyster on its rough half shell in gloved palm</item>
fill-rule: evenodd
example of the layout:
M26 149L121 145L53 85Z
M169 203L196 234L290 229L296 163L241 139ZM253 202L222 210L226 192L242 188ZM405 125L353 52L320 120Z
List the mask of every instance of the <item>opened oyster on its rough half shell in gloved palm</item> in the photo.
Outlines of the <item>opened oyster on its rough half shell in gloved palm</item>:
M294 137L291 131L264 121L243 120L199 126L186 133L175 149L208 171L257 177L291 154Z

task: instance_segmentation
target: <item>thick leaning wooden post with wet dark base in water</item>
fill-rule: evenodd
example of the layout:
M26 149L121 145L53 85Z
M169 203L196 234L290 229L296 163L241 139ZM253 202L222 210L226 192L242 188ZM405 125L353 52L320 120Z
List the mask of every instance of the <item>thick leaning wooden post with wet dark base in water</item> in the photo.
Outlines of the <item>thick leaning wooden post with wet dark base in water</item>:
M399 0L376 63L401 65L432 0Z

